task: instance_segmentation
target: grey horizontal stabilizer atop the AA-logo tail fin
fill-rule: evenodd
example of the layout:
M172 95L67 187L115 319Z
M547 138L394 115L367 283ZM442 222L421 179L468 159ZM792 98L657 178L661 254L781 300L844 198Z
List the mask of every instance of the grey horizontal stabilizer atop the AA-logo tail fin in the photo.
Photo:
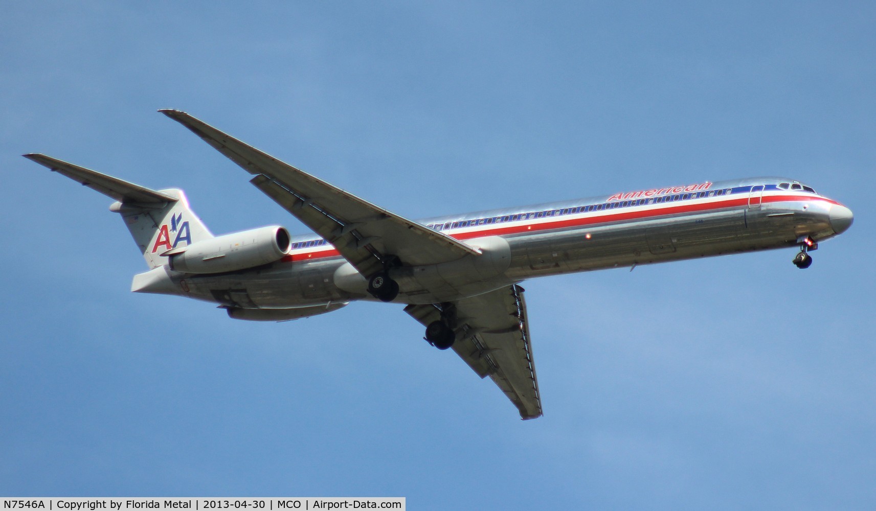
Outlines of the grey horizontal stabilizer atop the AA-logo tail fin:
M22 156L37 162L39 165L43 165L52 172L58 172L83 186L88 186L88 188L95 190L95 192L100 192L122 203L165 204L177 200L166 193L160 193L145 186L134 185L122 179L113 178L100 172L69 164L60 159L48 157L45 154L33 153Z

